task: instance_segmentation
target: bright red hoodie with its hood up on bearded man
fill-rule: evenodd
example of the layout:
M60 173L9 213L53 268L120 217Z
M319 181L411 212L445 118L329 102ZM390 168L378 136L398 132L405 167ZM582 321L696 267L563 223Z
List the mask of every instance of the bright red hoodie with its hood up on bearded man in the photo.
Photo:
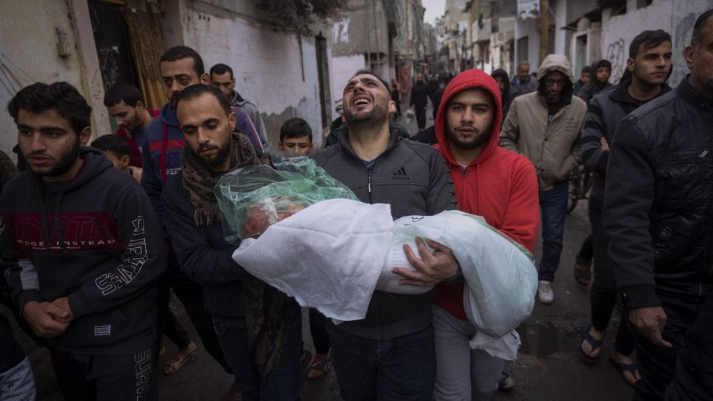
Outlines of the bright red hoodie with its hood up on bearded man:
M467 88L483 88L495 100L493 131L480 156L467 167L456 162L446 139L446 108L456 93ZM451 171L458 208L481 215L488 224L513 240L535 251L540 229L540 203L535 167L525 156L498 146L502 121L501 94L498 83L475 68L459 73L443 91L436 115L436 138L441 155ZM463 281L436 286L436 305L451 315L466 320L463 310Z

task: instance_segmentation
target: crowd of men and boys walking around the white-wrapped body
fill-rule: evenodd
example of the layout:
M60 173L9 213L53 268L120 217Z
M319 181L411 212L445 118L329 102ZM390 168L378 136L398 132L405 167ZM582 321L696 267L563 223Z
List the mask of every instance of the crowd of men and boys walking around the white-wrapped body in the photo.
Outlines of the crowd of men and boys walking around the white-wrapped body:
M657 30L635 37L615 85L608 61L577 82L556 54L536 77L527 63L513 81L502 70L464 71L435 107L435 146L404 138L391 121L392 86L360 70L344 87L332 146L312 153L311 128L291 118L277 148L309 155L360 200L389 203L394 218L463 210L530 252L541 230L543 305L555 301L568 178L583 163L595 183L580 255L592 248L594 278L591 257L578 258L592 323L580 357L597 362L620 297L626 313L610 362L633 399L710 400L713 10L697 19L682 54L690 73L672 89L676 56ZM1 161L4 303L48 348L65 400L158 399L163 335L178 347L165 375L197 349L168 308L170 290L242 400L298 400L309 358L302 310L232 260L213 193L225 173L270 163L265 124L230 66L206 72L185 46L159 65L170 101L152 110L137 88L113 86L105 105L119 131L91 146L91 108L68 83L34 83L9 102L24 171ZM419 76L425 96L424 85ZM424 128L425 97L411 101ZM402 284L435 289L376 290L364 319L338 325L310 310L309 379L333 364L345 400L489 400L503 385L506 357L473 345L458 260L434 240L416 244L404 248L414 270L394 271ZM506 337L496 340L516 349L516 335ZM31 364L2 316L0 340L0 399L34 399Z

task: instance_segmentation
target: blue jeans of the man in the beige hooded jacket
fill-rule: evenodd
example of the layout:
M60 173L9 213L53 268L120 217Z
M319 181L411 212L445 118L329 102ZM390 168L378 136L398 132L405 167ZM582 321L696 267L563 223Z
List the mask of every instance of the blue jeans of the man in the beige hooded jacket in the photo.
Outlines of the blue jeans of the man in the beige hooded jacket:
M550 282L555 280L555 272L560 265L568 194L568 181L557 183L554 188L547 191L540 191L540 218L542 219L540 280Z

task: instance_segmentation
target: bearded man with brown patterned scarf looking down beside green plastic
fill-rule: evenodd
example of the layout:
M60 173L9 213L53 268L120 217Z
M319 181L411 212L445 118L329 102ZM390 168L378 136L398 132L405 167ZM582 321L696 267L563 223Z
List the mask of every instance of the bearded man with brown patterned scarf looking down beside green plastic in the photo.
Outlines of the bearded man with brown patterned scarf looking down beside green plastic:
M246 273L223 239L212 188L225 173L267 163L241 133L220 91L185 88L176 106L185 136L181 172L163 188L165 220L181 268L205 293L205 307L242 400L297 400L302 355L299 305Z

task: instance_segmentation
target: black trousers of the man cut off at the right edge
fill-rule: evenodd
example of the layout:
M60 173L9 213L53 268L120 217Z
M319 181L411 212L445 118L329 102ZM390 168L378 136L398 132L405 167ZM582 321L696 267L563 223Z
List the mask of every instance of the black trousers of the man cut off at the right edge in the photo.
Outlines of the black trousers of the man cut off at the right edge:
M674 295L661 286L656 288L656 293L661 300L667 316L666 326L662 337L673 345L664 348L654 345L648 338L630 324L636 345L636 359L639 366L641 380L636 383L636 391L632 396L635 401L664 400L666 387L674 378L676 358L679 350L687 349L685 335L687 330L694 326L699 315L705 310L705 302L712 295L710 288L701 297L686 297ZM706 329L706 339L711 341L710 326ZM710 377L710 376L709 376Z

